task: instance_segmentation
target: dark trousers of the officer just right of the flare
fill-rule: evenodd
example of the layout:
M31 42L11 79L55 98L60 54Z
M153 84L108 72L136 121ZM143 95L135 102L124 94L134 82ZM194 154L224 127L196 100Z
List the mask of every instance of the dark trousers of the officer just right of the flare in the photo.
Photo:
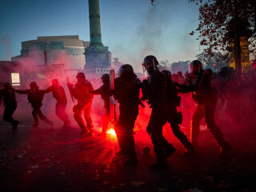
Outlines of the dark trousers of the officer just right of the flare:
M137 159L134 143L134 124L138 116L138 106L123 107L120 105L120 115L114 130L118 137L118 144L123 154L130 159Z

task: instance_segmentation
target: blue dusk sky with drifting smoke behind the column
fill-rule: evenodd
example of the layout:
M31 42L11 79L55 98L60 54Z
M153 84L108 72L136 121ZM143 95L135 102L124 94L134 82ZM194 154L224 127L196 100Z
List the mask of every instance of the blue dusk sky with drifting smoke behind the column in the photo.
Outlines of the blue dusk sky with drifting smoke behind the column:
M147 54L178 62L200 52L189 35L198 26L198 6L188 0L99 2L104 46L136 70ZM21 42L38 36L78 34L90 41L88 11L87 0L1 0L0 60L20 54Z

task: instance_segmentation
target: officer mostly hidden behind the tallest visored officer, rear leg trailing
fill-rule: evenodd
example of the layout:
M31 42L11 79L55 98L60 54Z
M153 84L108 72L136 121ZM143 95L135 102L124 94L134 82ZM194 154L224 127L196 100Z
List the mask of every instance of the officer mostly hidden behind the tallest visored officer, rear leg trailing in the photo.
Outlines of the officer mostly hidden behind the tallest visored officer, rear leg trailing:
M176 138L182 145L186 148L186 155L194 154L194 147L186 138L186 135L180 130L179 124L182 123L182 113L177 111L176 106L180 106L180 97L178 97L178 90L174 86L174 82L171 79L170 71L163 70L163 74L166 76L166 84L167 84L167 113L168 113L168 122L170 123L170 127L173 130L173 133Z

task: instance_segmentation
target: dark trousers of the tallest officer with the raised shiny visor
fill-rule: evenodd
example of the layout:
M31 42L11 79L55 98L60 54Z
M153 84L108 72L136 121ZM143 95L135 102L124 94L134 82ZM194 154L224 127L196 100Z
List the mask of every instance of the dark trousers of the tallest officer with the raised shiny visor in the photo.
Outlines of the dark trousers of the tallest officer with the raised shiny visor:
M168 115L166 106L154 106L150 115L150 122L146 128L148 134L151 136L151 141L154 145L154 152L158 158L158 162L160 163L165 161L166 148L172 146L162 135L162 126L166 124L167 120Z

